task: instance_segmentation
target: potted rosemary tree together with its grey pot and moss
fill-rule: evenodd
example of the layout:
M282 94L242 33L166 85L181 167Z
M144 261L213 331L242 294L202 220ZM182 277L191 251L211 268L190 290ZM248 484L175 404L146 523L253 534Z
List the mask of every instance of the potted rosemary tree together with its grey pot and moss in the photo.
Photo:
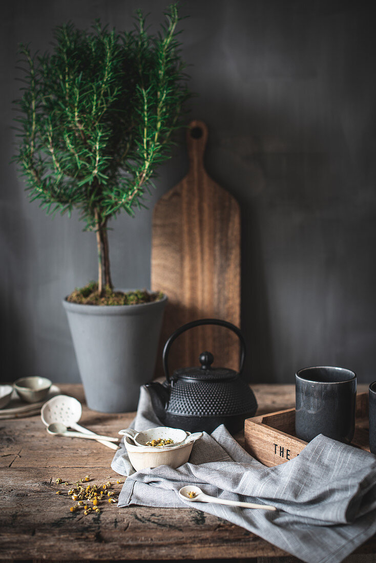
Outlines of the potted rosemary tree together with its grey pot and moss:
M56 28L51 53L20 47L25 87L15 101L14 160L32 201L47 214L77 209L96 235L98 282L63 305L87 403L102 412L136 408L139 386L152 378L166 302L160 293L114 291L108 245L110 220L145 207L191 96L176 5L165 16L158 35L138 12L132 32L67 24Z

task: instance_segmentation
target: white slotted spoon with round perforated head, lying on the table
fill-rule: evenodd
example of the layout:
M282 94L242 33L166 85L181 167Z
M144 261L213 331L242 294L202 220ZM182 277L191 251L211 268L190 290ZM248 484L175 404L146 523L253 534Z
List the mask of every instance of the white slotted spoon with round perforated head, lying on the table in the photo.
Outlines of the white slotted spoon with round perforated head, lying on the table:
M91 432L91 430L87 430L87 428L77 424L81 418L81 414L81 403L77 399L74 399L74 397L69 397L68 395L56 395L56 397L52 397L41 409L42 422L47 427L54 422L62 422L65 426L74 428L74 430L78 430L84 434L95 434L95 432ZM118 449L116 444L106 440L97 441L113 450Z

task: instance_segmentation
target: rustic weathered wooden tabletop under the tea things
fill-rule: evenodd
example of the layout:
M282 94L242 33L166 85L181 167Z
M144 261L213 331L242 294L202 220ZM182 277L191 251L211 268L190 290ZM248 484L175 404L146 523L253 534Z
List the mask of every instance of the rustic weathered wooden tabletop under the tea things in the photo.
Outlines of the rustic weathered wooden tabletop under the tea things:
M81 385L60 385L63 394L84 403ZM293 385L252 386L258 413L294 406ZM366 386L359 386L365 390ZM99 434L117 436L134 413L101 414L83 405L81 423ZM74 502L59 497L55 480L121 484L110 469L113 451L94 440L50 436L39 415L0 421L0 560L254 560L298 561L255 534L194 508L173 510L105 503L100 515L69 512ZM242 441L242 436L237 436ZM66 491L63 485L60 489ZM376 539L348 561L375 561ZM368 555L367 555L368 554Z

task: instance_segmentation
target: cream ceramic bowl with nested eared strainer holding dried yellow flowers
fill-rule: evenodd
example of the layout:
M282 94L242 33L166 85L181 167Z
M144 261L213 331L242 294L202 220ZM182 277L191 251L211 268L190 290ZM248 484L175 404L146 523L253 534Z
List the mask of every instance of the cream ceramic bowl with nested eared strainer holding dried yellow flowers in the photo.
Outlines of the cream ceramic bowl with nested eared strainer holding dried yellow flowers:
M163 431L163 435L161 434L161 431ZM178 432L180 439L174 440L174 436L177 436ZM171 440L174 441L181 441L182 432L184 432L187 436L191 434L191 432L178 430L178 428L168 428L162 426L160 428L149 428L149 430L145 430L142 433L140 432L139 435L142 434L143 439L148 437L145 441L149 441L149 437L151 439L165 437L171 438ZM187 463L189 455L191 455L192 452L194 441L195 440L188 442L188 444L178 444L176 446L171 444L171 446L163 446L163 448L160 446L153 448L152 446L138 446L130 437L124 437L124 444L129 456L129 461L136 471L148 467L158 467L160 465L168 465L174 469L176 469L176 467L180 467L184 463Z

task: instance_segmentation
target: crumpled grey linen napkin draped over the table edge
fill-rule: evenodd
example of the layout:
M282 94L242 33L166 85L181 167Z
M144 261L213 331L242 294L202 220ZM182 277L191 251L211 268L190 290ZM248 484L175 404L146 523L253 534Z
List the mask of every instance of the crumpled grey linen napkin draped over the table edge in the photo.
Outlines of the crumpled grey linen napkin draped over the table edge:
M159 426L146 388L132 427ZM224 426L204 434L189 462L174 470L160 466L134 472L125 446L111 467L129 475L118 506L198 508L252 531L308 563L337 563L376 532L376 457L325 436L317 436L289 462L265 467L243 450ZM273 504L267 512L178 496L198 485L224 499Z

